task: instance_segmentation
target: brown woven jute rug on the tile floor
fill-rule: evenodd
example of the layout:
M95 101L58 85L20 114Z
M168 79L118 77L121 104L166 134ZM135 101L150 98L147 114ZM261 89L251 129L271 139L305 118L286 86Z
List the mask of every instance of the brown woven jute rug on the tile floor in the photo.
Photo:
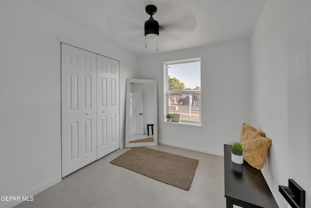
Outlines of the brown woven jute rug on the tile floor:
M132 148L110 163L189 190L199 160L145 147Z

